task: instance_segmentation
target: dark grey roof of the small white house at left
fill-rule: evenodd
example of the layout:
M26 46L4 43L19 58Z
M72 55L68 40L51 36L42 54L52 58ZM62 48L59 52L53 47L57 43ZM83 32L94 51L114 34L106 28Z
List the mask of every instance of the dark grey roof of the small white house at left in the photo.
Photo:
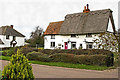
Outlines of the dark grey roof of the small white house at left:
M11 28L10 26L2 26L0 27L0 35L10 35L10 36L18 36L18 37L25 37L20 32L16 31L15 29Z

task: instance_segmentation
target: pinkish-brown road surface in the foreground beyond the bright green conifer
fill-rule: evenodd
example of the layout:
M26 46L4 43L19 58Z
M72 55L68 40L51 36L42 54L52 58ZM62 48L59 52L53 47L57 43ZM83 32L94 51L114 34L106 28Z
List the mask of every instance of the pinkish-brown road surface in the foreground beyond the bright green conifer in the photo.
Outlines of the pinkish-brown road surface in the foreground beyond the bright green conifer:
M0 60L0 69L9 61ZM32 64L35 78L118 78L117 69L96 71Z

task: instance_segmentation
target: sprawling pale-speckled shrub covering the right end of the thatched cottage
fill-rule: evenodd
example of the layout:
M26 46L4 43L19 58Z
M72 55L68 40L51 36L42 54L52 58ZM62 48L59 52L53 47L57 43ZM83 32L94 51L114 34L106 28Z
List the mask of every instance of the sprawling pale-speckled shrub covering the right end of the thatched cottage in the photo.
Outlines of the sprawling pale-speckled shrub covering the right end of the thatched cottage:
M113 33L104 32L99 35L94 43L98 46L98 49L106 49L113 52L118 52L118 40Z

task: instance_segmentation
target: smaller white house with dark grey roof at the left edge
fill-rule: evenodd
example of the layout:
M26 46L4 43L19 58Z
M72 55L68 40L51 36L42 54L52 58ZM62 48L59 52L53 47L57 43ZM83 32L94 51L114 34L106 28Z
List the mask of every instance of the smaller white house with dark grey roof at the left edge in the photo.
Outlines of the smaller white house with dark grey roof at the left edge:
M25 36L11 26L0 27L0 48L24 46Z

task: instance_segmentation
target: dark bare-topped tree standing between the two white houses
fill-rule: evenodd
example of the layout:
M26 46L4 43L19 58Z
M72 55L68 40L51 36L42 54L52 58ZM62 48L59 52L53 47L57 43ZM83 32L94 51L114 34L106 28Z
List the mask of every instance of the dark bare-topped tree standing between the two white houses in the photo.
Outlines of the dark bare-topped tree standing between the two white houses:
M35 27L35 30L31 32L30 39L26 40L31 47L43 47L44 46L44 37L43 29L39 26Z

